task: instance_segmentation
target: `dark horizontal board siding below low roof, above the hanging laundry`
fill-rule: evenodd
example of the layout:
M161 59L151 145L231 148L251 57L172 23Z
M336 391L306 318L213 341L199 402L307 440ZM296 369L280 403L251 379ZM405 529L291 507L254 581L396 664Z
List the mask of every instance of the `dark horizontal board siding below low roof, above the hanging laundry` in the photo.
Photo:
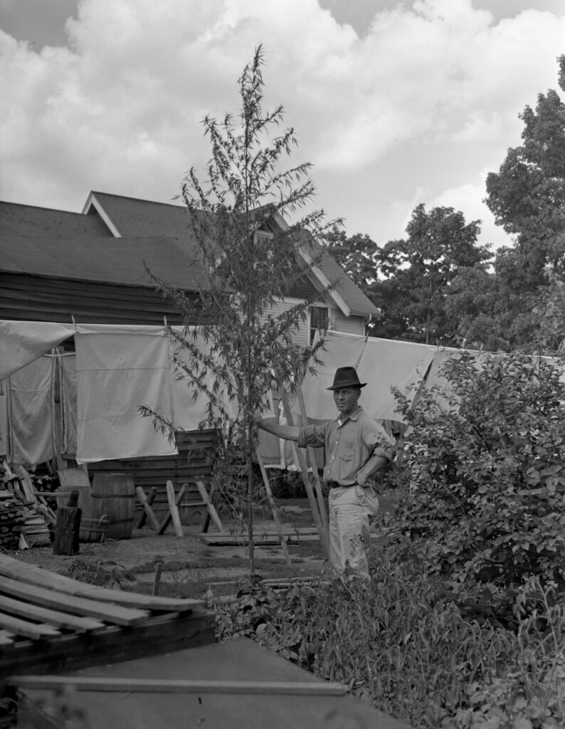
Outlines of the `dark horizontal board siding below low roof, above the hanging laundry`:
M81 324L182 324L175 306L144 286L0 273L0 319Z

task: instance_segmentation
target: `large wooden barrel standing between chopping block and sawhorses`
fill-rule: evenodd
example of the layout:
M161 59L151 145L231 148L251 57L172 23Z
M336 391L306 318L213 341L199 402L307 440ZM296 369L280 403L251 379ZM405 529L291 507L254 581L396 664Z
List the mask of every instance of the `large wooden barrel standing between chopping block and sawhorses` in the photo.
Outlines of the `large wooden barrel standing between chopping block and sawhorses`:
M91 493L91 517L108 517L108 539L130 539L136 512L133 476L123 473L95 473Z

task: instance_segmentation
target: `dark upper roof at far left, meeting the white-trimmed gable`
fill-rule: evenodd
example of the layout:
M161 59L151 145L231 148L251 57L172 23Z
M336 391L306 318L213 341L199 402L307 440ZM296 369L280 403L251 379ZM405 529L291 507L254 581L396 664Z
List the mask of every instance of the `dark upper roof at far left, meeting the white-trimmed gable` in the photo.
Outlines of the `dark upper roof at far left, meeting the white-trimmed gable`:
M26 238L74 238L91 235L93 238L111 237L104 221L94 215L69 213L51 208L38 208L0 200L0 233L22 235Z

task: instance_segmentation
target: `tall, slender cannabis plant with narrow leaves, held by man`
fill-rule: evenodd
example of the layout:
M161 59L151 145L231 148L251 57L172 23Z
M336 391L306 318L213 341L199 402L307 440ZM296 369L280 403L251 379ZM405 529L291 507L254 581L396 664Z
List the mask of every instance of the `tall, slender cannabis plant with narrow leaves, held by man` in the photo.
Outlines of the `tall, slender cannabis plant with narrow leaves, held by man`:
M204 179L192 168L182 184L200 254L198 300L160 282L186 325L184 335L171 331L178 344L176 371L206 397L206 426L221 427L228 448L241 454L252 571L253 413L262 409L273 385L294 382L308 362L316 363L315 350L292 346L292 339L307 321L310 305L329 290L305 286L319 259L314 239L326 226L322 211L298 215L314 194L311 165L280 168L297 140L292 128L280 130L282 106L262 109L262 66L259 46L238 79L238 117L203 120L211 144ZM303 302L277 310L276 302L297 289ZM305 295L308 290L312 293Z

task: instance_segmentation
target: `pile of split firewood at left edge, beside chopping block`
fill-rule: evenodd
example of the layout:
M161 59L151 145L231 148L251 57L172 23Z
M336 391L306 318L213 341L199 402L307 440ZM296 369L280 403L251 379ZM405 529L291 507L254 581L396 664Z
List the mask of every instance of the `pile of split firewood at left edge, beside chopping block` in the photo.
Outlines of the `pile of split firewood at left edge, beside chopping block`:
M19 505L23 521L12 521L12 532L17 534L17 540L23 546L32 547L50 544L49 523L56 521L55 513L47 505L45 499L39 494L31 483L31 478L23 466L14 466L13 469L4 461L4 490L11 494ZM17 546L17 545L16 545ZM14 547L12 547L14 548Z

